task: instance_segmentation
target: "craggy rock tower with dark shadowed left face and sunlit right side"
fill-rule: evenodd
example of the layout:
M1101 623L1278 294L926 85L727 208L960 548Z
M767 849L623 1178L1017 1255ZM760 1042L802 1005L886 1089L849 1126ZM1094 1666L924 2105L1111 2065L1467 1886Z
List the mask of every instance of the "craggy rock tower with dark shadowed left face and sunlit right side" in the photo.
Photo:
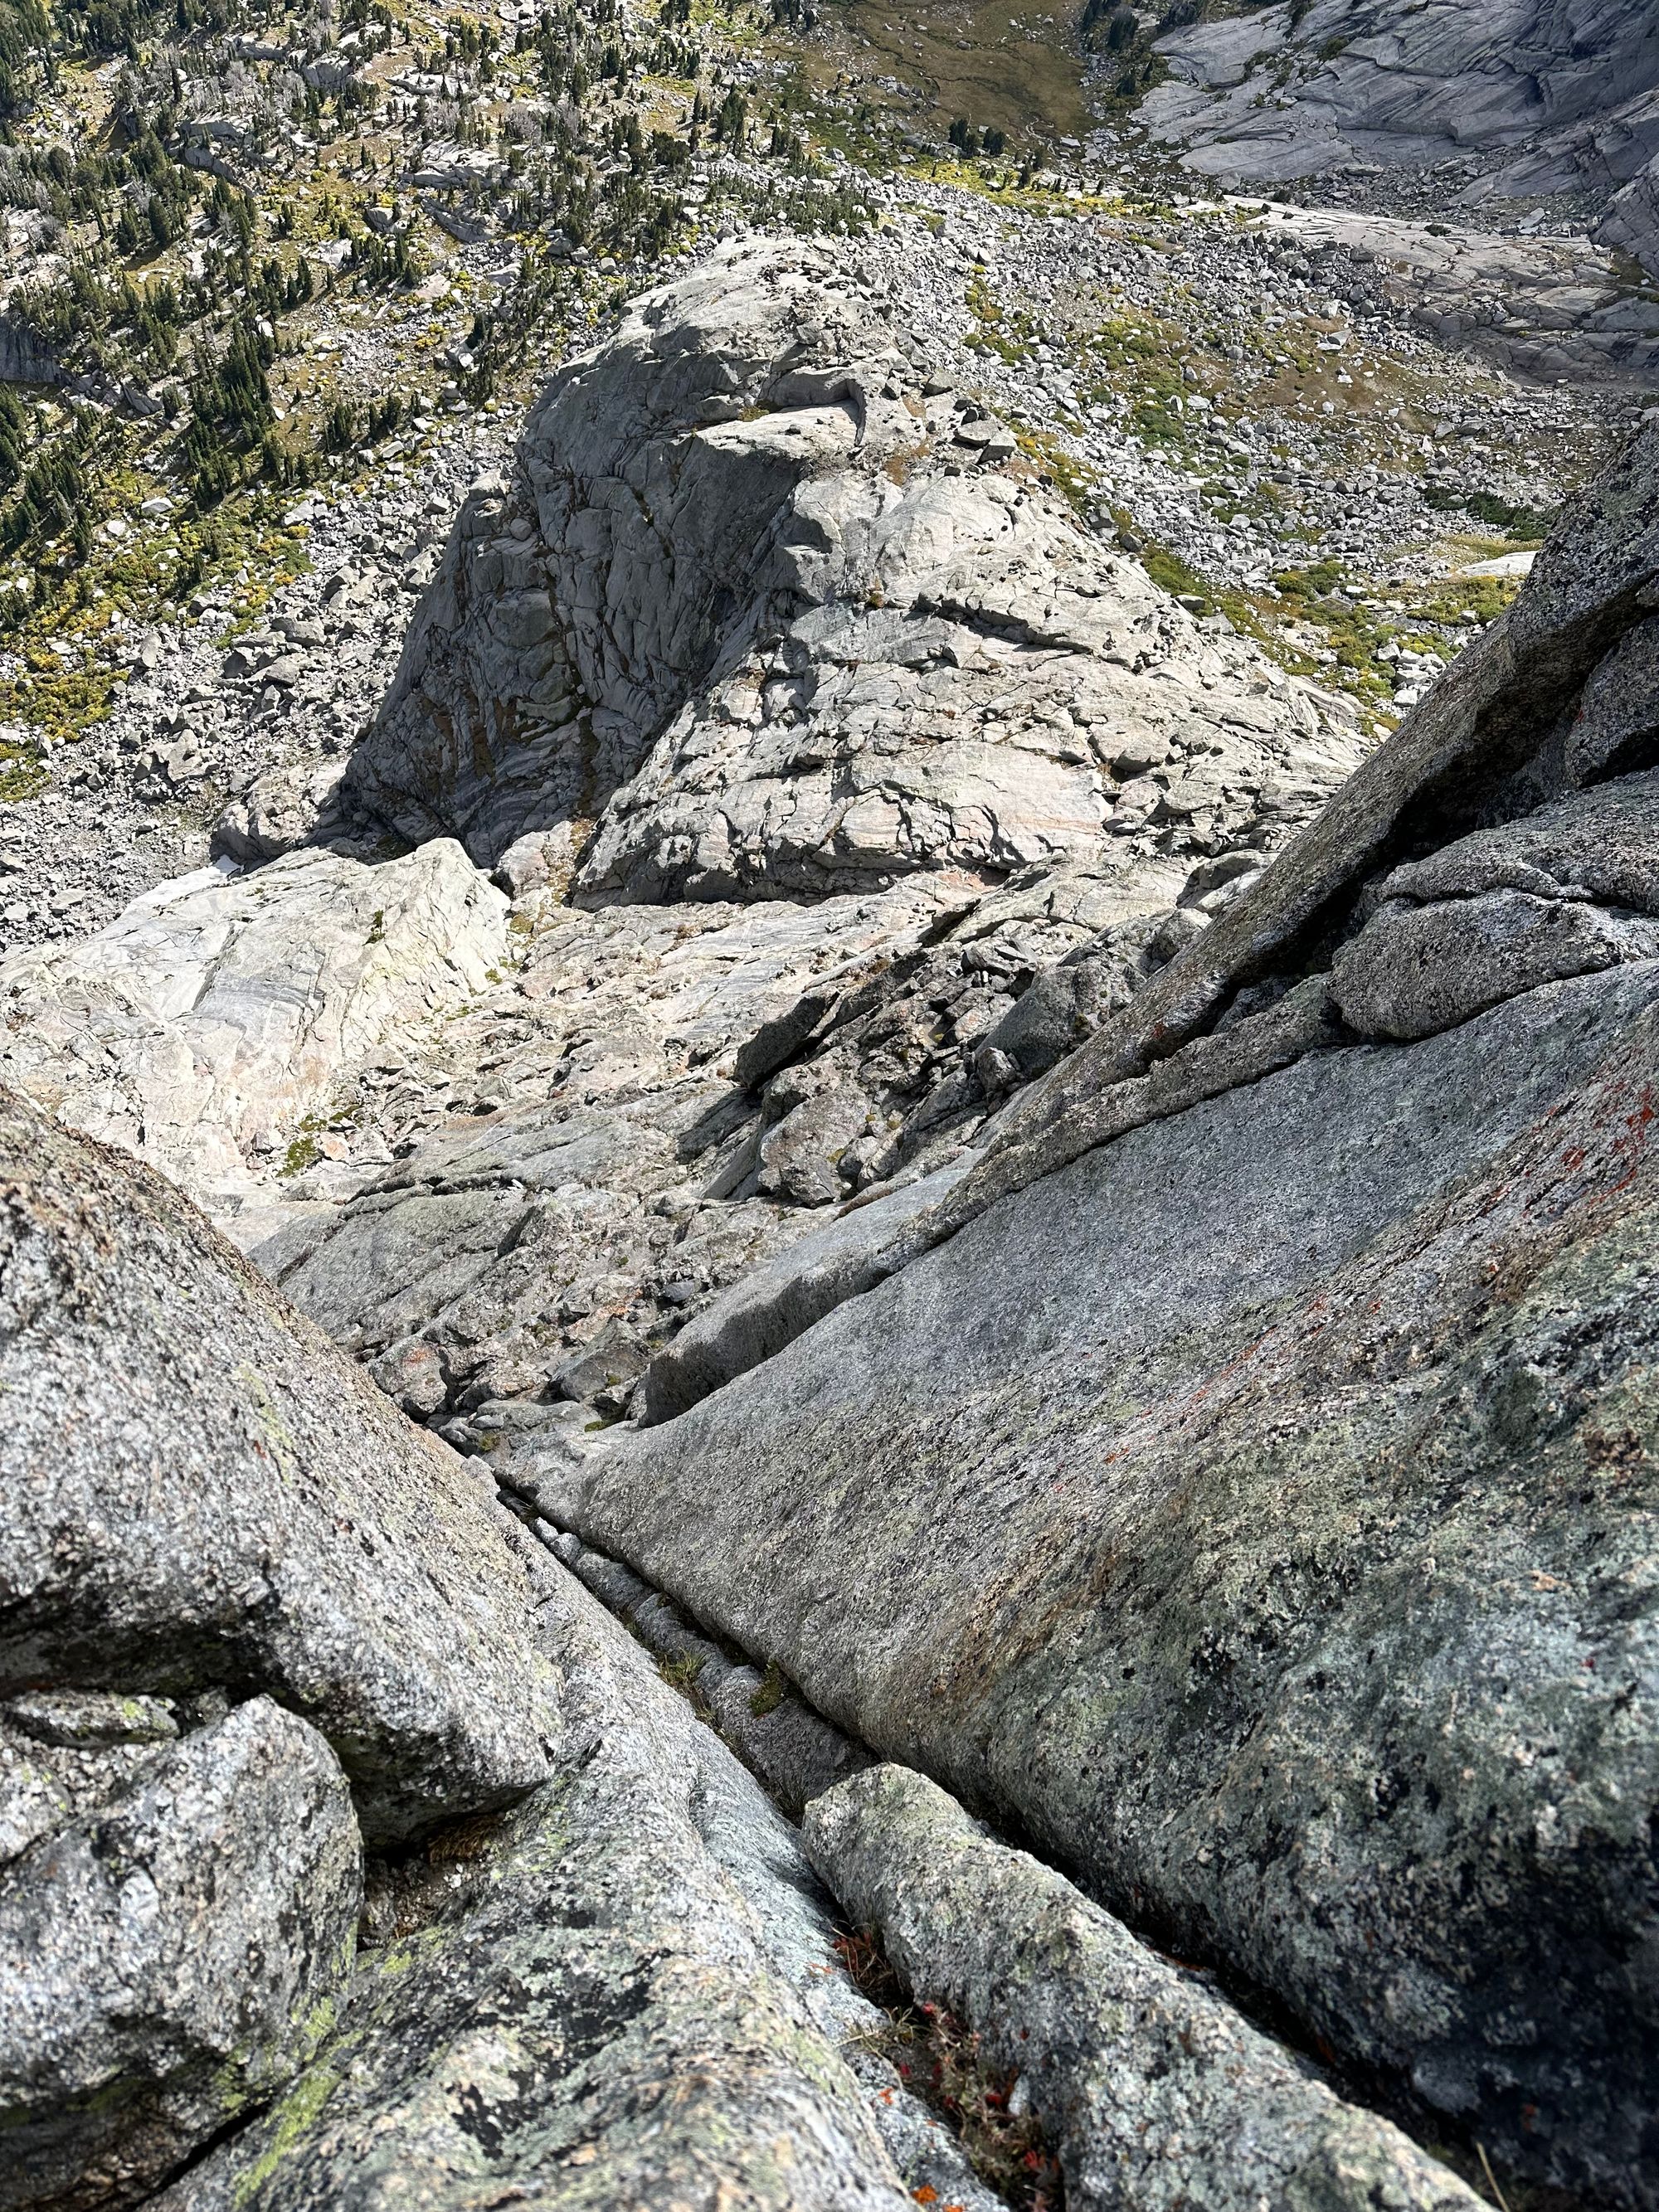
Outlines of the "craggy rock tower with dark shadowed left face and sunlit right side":
M856 891L1199 852L1358 757L1037 469L925 396L849 272L734 246L553 378L467 504L347 794L580 900ZM1170 765L1161 783L1148 772ZM551 838L551 845L546 845Z

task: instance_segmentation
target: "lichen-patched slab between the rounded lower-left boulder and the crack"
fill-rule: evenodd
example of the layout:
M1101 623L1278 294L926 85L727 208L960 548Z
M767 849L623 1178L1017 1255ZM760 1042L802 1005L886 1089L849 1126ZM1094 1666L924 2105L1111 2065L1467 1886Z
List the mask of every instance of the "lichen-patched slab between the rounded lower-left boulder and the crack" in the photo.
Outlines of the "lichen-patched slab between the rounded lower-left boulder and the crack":
M546 1557L538 1586L560 1772L471 1896L363 1955L314 2066L168 2212L911 2201L876 2132L907 2099L834 2048L876 2015L832 1969L794 1832ZM905 2121L909 2188L991 2212L949 2137Z

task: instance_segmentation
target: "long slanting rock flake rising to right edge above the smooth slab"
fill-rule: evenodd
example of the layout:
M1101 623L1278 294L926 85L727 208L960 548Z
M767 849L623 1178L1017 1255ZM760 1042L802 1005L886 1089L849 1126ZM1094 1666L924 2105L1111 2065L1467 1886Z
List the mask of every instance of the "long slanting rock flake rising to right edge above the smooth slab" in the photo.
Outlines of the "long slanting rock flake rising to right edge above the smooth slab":
M1046 1172L1095 1144L1102 1091L1139 1075L1252 991L1296 973L1312 949L1340 936L1367 876L1389 863L1455 845L1478 825L1502 825L1500 854L1542 867L1568 887L1573 863L1599 872L1610 905L1646 911L1644 863L1650 794L1619 783L1562 812L1522 816L1595 785L1608 770L1652 765L1646 732L1628 712L1599 743L1610 695L1624 695L1635 653L1646 650L1648 611L1659 593L1659 431L1644 431L1566 511L1526 588L1447 681L1405 721L1389 745L1343 785L1321 818L1217 916L1203 942L1168 962L1099 1033L1006 1115L998 1146L958 1203ZM1582 812L1579 812L1582 810ZM1573 838L1571 825L1582 832ZM1553 838L1568 834L1555 854ZM1533 858L1533 841L1542 841ZM1469 852L1478 852L1473 845ZM1604 854L1590 860L1588 852ZM1564 872L1555 876L1551 860ZM1613 872L1621 874L1613 874ZM1425 885L1433 876L1420 878ZM1409 880L1407 880L1409 883ZM1491 889L1537 889L1535 878L1491 878Z

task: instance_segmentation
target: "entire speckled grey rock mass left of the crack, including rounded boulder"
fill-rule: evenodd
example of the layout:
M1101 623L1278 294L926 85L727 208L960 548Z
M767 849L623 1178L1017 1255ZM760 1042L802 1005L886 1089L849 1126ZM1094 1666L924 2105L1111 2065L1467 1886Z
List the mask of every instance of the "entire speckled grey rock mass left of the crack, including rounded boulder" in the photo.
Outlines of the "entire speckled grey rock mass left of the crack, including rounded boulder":
M995 2212L489 1486L157 1175L15 1099L4 1164L0 2199Z

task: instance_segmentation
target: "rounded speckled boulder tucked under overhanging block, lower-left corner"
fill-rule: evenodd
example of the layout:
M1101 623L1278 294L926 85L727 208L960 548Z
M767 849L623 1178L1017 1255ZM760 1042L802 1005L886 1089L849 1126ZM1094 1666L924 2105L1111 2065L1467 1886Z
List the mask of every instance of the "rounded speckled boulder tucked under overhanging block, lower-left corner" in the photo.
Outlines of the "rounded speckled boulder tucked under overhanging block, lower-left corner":
M270 1699L0 1874L7 2205L128 2203L316 2051L352 1964L338 1761Z

